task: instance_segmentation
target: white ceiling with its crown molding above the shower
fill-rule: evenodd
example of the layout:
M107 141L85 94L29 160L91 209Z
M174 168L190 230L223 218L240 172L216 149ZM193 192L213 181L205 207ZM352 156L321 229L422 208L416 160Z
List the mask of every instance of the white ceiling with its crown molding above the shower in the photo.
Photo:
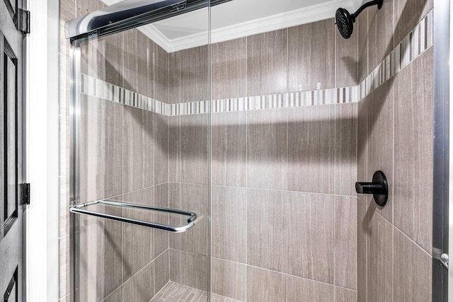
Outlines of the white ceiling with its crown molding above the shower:
M111 5L121 0L102 0ZM221 42L256 33L334 18L339 7L353 13L364 0L233 0L212 7L211 41ZM141 30L168 52L206 45L207 8L144 25Z

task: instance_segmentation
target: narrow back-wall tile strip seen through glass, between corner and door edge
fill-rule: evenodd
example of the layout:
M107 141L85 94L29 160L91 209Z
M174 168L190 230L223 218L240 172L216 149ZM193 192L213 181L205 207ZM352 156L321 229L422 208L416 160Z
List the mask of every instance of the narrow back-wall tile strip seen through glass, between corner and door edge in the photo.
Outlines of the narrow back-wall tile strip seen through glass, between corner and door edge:
M207 46L168 54L168 103L208 100L208 67ZM198 215L194 228L170 234L170 280L208 291L210 117L176 115L168 120L170 207Z

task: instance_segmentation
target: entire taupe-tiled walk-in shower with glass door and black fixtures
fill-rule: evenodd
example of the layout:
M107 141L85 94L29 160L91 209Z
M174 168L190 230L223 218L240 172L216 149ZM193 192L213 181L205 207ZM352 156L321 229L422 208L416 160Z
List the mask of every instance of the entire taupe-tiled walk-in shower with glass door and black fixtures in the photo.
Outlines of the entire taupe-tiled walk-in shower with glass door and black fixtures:
M88 2L62 71L71 301L440 301L432 10Z

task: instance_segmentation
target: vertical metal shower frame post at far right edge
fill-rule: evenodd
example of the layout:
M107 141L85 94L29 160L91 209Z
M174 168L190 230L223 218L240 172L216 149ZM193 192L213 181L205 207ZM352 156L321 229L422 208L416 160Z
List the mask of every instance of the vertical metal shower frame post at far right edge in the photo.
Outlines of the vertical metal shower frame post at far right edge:
M434 111L433 111L433 178L432 178L432 301L448 301L449 285L453 278L440 257L449 252L449 0L434 1ZM450 219L453 215L450 216Z

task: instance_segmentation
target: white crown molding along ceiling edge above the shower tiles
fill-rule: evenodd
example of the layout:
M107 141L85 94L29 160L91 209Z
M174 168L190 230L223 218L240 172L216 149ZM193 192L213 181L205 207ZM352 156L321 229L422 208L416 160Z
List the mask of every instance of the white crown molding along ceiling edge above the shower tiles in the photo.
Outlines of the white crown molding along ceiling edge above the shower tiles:
M102 1L107 5L118 2L118 0ZM224 42L240 37L256 35L258 33L268 33L273 30L280 30L282 28L290 28L297 25L334 18L335 12L340 6L353 11L362 5L364 1L365 0L332 0L314 6L299 8L294 11L278 13L273 16L211 30L211 42ZM177 52L178 50L186 50L208 44L207 31L169 40L152 24L144 25L140 27L139 30L157 45L166 50L166 52Z

